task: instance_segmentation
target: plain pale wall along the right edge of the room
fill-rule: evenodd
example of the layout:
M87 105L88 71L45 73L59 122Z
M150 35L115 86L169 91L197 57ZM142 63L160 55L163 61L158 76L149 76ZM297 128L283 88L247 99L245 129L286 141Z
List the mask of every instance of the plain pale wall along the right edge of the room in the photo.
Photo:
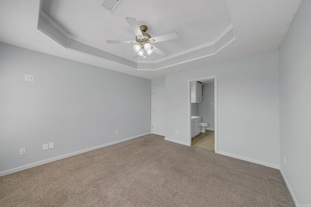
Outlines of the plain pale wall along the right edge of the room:
M311 206L310 8L301 2L279 48L280 169L301 206Z

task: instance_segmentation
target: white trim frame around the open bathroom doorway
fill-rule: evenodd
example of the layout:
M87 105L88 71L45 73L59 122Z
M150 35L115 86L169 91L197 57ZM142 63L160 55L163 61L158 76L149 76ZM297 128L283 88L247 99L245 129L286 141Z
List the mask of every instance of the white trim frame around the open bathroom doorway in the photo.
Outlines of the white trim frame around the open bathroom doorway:
M191 82L202 80L214 80L214 125L215 125L215 153L218 153L218 101L217 101L217 76L208 76L198 79L188 80L188 145L191 146Z

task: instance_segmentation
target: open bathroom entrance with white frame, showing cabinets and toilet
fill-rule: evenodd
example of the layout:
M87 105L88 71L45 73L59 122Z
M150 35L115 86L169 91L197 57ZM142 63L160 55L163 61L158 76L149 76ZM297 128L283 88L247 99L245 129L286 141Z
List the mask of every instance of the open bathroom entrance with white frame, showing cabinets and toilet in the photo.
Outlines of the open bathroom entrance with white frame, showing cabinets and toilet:
M190 145L217 152L217 77L190 80Z

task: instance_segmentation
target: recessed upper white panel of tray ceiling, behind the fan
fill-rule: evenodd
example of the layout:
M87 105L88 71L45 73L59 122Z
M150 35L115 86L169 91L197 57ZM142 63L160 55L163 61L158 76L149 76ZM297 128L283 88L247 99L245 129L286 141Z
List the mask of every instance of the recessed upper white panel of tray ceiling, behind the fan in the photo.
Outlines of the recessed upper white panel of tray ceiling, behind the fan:
M106 42L106 40L135 41L136 35L125 17L136 18L139 26L147 25L147 33L151 36L177 32L178 39L155 44L168 55L212 41L231 23L225 0L182 1L182 3L180 0L156 0L149 1L146 6L142 6L147 4L146 0L123 0L112 14L98 4L99 0L42 2L42 10L69 34L128 58L132 58L134 53L132 44ZM141 57L138 58L143 61ZM152 54L147 59L154 61L160 59L160 56Z

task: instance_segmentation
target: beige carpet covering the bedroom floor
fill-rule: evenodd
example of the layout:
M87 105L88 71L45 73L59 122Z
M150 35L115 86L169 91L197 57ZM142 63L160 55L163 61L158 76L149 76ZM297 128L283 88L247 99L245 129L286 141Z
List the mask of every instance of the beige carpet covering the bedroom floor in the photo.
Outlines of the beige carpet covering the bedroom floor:
M276 169L147 135L0 177L1 207L294 207Z

